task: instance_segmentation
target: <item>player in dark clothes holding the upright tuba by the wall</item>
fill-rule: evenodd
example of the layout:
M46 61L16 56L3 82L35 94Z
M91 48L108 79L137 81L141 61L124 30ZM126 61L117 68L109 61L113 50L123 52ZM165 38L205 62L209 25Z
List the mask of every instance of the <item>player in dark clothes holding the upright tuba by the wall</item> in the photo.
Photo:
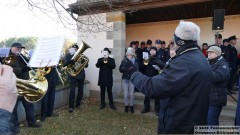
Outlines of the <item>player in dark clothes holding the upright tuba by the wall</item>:
M68 66L69 64L74 65L75 61L72 60L72 57L76 53L76 51L79 49L77 44L73 44L70 50L70 53L68 53L64 59L64 67ZM85 66L85 68L88 67L88 64ZM69 112L72 113L74 108L76 107L77 109L81 105L81 101L83 98L83 88L84 88L84 79L85 79L85 70L84 68L76 75L72 76L68 74L68 78L70 80L70 93L69 93ZM77 94L77 99L76 99L76 104L74 106L75 102L75 88L76 86L78 87L78 94Z

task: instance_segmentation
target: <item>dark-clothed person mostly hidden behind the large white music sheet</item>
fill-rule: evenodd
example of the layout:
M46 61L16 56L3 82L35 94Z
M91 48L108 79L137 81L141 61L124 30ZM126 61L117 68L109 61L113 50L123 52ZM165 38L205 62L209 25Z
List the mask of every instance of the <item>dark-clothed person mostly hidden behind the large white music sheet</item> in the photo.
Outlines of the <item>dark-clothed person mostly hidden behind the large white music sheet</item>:
M50 72L45 75L48 81L48 90L41 100L41 121L45 121L46 117L56 117L57 113L53 112L55 101L55 89L58 84L58 74L56 67L49 67ZM47 68L48 69L48 68Z

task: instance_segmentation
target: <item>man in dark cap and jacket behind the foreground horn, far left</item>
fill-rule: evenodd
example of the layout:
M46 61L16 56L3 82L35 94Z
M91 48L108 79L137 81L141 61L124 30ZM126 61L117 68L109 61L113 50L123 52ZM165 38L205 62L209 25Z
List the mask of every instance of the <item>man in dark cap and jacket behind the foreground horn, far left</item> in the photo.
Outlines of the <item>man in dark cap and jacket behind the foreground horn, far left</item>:
M22 44L20 43L13 43L11 46L11 50L9 53L9 56L11 57L11 62L8 63L9 66L13 68L13 72L19 79L24 79L28 80L29 79L29 71L31 70L27 64L25 63L28 62L28 59L24 57L21 53ZM14 133L19 133L20 128L19 128L19 122L18 122L18 113L17 113L17 108L18 108L18 103L22 101L22 104L25 108L26 112L26 119L28 121L28 127L34 127L34 128L39 128L41 127L41 123L36 121L36 118L34 116L34 106L32 103L29 103L28 101L25 100L24 97L18 97L17 103L14 107L13 110L13 122L14 122Z

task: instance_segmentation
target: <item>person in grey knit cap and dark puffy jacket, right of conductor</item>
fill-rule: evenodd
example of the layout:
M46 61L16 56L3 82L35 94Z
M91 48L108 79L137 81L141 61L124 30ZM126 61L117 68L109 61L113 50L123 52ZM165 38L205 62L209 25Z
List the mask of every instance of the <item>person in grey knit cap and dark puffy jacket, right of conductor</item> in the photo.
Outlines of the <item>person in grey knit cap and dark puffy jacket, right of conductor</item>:
M208 125L219 125L222 107L227 104L227 80L230 77L228 64L221 56L218 46L208 50L208 60L212 68L212 83L209 92Z

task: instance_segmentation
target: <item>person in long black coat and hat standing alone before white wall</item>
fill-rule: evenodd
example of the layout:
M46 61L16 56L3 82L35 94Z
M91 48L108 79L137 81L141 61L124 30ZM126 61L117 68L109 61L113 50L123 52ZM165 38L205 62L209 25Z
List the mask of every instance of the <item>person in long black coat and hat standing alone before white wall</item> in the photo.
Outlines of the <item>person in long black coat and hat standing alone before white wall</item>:
M107 52L106 52L107 51ZM111 54L111 51L108 48L103 49L103 54ZM99 70L99 78L98 78L98 86L101 89L101 106L100 109L105 108L105 89L107 88L109 106L111 109L116 110L113 104L113 96L112 96L112 86L113 86L113 69L115 69L116 64L113 58L110 58L108 54L104 55L102 58L99 58L96 67L100 68Z

